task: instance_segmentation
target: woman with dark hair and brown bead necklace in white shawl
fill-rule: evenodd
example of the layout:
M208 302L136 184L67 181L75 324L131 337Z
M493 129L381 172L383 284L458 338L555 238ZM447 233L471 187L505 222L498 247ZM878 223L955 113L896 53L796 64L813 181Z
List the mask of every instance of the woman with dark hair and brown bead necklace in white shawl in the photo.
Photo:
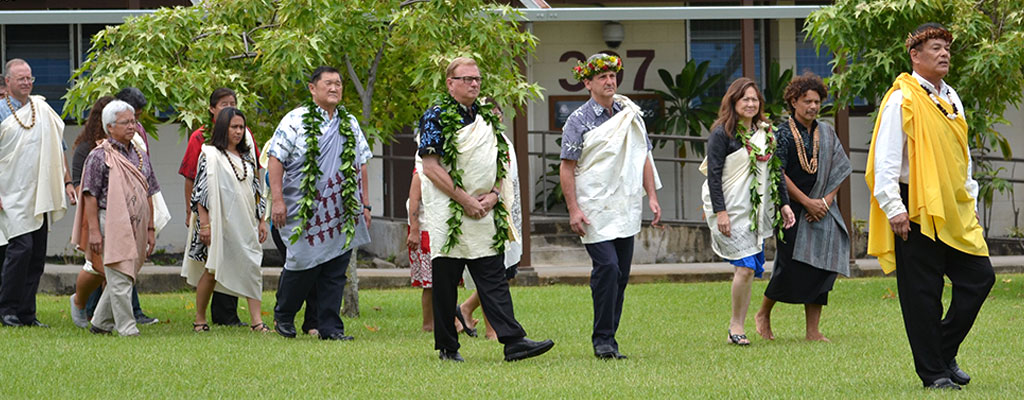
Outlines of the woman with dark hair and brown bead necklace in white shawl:
M191 224L181 275L196 286L193 330L210 330L206 308L216 290L249 302L250 328L269 331L261 315L263 278L260 265L266 239L266 199L257 173L254 144L247 140L246 118L227 107L216 118L213 133L199 158Z

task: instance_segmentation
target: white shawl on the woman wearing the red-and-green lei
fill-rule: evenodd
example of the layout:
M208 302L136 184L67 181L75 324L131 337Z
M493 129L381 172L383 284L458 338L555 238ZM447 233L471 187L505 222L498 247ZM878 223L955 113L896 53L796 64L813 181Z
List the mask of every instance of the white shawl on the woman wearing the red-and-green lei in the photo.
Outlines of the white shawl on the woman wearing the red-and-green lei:
M751 137L751 144L764 148L767 135L765 128L759 129ZM725 194L725 210L729 213L731 237L726 237L718 230L718 218L711 204L711 191L705 180L700 188L703 198L705 221L711 229L712 250L726 260L739 260L760 253L763 240L772 235L772 218L775 206L771 203L768 185L768 162L757 162L757 179L761 182L758 190L761 193L761 207L758 208L758 231L751 230L751 182L755 176L751 174L750 153L746 148L733 151L725 158L725 168L722 169L722 192ZM700 173L708 176L708 158L700 164Z

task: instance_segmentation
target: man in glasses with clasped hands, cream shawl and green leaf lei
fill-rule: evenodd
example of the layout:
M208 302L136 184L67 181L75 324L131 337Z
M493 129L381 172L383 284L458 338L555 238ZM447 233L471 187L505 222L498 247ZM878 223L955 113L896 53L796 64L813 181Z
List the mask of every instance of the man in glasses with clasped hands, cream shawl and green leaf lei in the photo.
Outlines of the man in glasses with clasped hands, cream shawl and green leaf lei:
M515 319L505 275L504 236L514 234L514 223L505 217L519 212L506 208L515 205L508 195L508 176L502 174L515 166L511 143L495 133L499 123L493 106L476 101L481 78L475 60L452 60L445 84L449 95L420 119L422 226L433 241L434 349L441 360L464 361L452 321L459 278L468 267L487 322L505 345L505 360L539 356L555 344L526 339Z

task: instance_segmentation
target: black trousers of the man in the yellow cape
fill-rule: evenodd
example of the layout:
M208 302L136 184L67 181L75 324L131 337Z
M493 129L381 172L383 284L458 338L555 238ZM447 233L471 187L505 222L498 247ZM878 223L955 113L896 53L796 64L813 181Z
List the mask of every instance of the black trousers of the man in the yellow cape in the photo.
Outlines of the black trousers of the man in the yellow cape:
M903 198L907 198L903 191ZM905 203L905 201L904 201ZM896 237L896 286L913 365L925 385L948 377L947 365L971 331L982 303L995 283L988 257L973 256L921 233L910 223L907 240ZM943 275L952 299L942 317Z

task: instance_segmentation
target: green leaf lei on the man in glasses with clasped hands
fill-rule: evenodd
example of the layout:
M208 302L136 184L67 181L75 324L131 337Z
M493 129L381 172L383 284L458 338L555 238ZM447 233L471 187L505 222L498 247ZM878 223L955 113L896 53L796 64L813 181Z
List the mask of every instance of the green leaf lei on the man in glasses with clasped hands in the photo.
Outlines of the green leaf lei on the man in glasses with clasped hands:
M459 103L454 97L445 96L440 100L438 106L441 109L441 137L444 141L441 147L444 151L443 155L441 155L441 162L451 168L449 176L452 177L452 183L455 187L465 190L462 184L463 171L459 168L459 148L456 138L459 130L463 127L462 116L459 115ZM495 138L498 140L498 158L496 161L498 163L498 172L495 174L495 186L497 186L502 179L505 179L507 173L509 143L505 141L505 137L502 135L505 126L502 125L498 115L495 114L495 105L480 104L479 107L480 117L494 129ZM446 221L449 232L444 238L444 245L441 246L442 253L451 252L453 248L459 245L460 237L462 236L463 207L453 198L449 201L449 210L452 211L452 217ZM495 208L492 211L495 220L494 245L492 247L498 253L503 253L505 252L505 242L509 240L509 212L505 208L505 203L502 202L501 195L498 196L498 203L495 204Z

